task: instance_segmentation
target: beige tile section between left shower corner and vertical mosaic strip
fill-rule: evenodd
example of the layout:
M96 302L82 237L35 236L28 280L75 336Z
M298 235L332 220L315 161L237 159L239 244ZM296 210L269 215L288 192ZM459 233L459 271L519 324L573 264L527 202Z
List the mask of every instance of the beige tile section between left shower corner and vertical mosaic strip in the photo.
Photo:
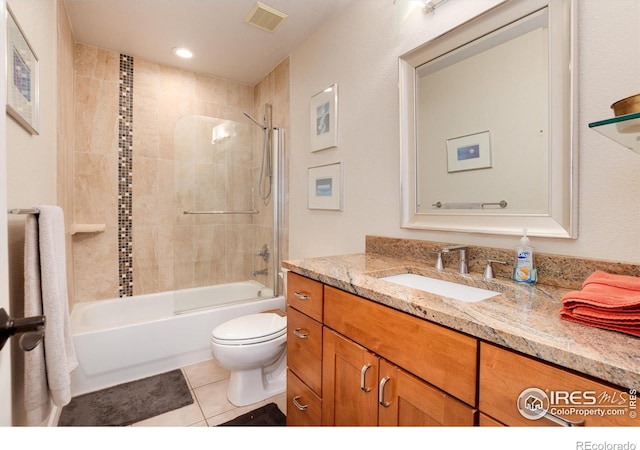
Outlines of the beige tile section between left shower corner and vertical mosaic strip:
M104 233L73 239L74 297L83 301L118 292L118 55L75 45L73 67L73 216L78 224L106 224ZM86 298L87 292L92 296Z

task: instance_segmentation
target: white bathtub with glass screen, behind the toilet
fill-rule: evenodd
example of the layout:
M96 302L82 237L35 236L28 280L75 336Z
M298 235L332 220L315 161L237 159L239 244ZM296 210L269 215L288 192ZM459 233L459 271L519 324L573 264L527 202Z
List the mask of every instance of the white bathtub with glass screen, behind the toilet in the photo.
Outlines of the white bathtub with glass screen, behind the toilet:
M249 292L253 298L248 298ZM174 301L180 308L174 313ZM256 281L77 303L71 333L79 367L71 395L80 395L211 359L217 325L285 308L282 296Z

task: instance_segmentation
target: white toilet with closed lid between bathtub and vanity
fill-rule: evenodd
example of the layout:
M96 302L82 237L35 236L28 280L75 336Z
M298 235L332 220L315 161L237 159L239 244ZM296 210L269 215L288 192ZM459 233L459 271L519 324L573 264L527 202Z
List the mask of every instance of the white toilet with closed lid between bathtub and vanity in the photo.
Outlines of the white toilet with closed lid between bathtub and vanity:
M227 398L236 406L286 390L287 318L274 312L249 314L211 332L211 352L231 371Z

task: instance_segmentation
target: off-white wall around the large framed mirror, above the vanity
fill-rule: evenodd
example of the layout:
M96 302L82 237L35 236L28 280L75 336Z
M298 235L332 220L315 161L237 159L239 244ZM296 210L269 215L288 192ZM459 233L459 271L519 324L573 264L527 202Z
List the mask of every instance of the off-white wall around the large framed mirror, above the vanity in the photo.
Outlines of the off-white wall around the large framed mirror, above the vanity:
M352 1L291 55L292 257L361 252L365 235L517 245L515 236L400 228L398 56L460 23L454 12L473 14L497 2L449 2L435 14L418 8L400 23L403 3L411 2ZM579 237L532 244L544 253L638 263L640 157L588 123L611 117L611 103L638 92L640 3L576 3ZM309 99L332 83L340 96L338 148L310 153ZM344 163L344 211L307 209L307 168L337 161Z

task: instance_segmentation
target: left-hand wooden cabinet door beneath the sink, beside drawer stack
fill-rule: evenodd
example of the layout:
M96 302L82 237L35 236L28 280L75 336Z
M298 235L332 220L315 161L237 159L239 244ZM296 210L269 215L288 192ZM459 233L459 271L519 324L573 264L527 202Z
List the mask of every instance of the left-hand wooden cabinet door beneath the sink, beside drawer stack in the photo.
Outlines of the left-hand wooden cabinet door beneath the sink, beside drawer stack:
M322 424L378 424L378 356L324 328Z

